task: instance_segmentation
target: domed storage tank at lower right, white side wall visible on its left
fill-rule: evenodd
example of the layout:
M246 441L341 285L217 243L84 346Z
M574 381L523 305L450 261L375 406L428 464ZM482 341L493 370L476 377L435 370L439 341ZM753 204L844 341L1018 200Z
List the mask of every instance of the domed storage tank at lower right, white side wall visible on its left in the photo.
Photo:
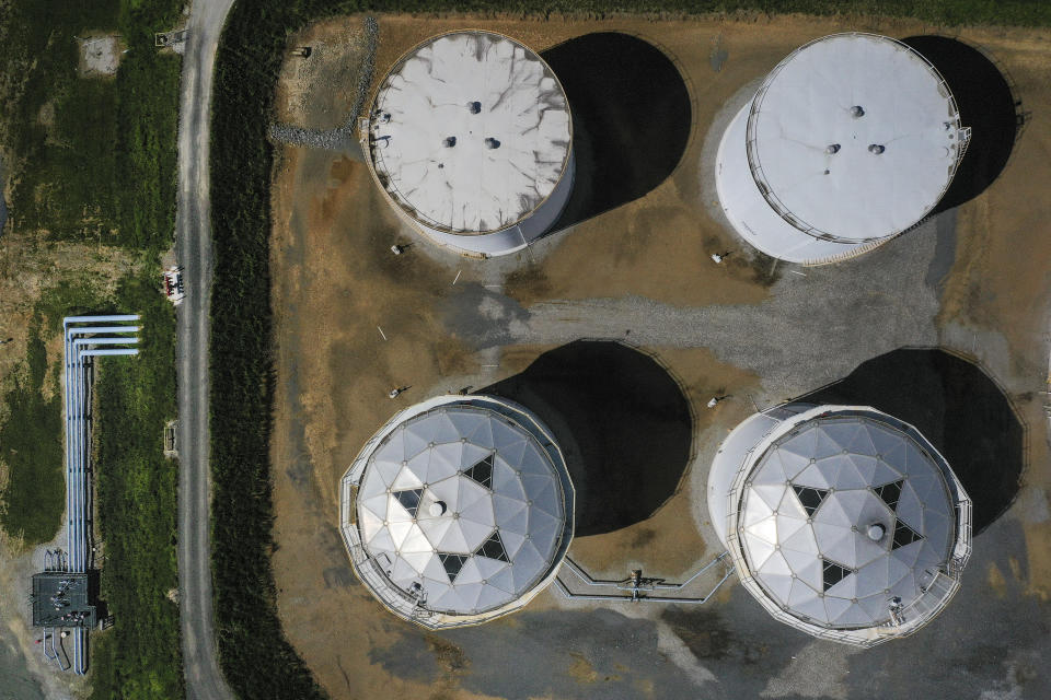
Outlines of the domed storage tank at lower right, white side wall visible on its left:
M792 404L724 441L708 510L741 583L815 637L871 646L929 622L960 586L971 501L909 423Z

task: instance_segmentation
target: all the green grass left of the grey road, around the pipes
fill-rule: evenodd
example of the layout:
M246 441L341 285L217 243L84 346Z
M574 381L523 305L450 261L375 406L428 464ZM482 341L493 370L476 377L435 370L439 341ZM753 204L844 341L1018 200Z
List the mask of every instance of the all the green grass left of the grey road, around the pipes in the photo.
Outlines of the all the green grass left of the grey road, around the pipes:
M60 360L45 358L45 343L60 335L65 315L143 315L139 357L97 364L102 595L116 625L92 643L93 698L184 696L178 609L168 599L177 585L177 466L162 446L164 421L175 416L175 324L157 290L160 254L175 224L181 62L153 46L153 32L175 27L182 7L183 0L0 0L9 225L28 245L99 242L139 262L113 294L100 292L103 273L91 269L76 280L45 278L49 289L33 306L26 366L3 397L8 421L0 427L0 458L11 476L0 525L26 541L50 539L65 479L58 369L51 398L42 393L48 360ZM127 49L116 75L79 75L76 37L103 34L119 35L119 49ZM27 514L31 502L48 508Z

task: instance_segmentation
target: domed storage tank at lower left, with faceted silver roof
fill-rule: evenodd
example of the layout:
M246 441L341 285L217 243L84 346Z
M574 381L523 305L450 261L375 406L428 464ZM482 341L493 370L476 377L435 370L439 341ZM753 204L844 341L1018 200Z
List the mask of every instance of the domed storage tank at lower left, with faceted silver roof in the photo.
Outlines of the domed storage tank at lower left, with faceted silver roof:
M340 485L355 573L392 612L430 629L524 606L573 539L562 451L522 406L438 396L396 413Z

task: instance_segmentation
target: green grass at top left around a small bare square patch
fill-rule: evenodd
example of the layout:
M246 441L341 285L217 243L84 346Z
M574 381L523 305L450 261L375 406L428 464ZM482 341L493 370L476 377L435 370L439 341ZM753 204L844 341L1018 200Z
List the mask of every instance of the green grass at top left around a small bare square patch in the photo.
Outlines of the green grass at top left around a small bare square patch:
M180 60L153 47L181 0L14 0L0 27L11 223L53 237L166 247L175 210ZM79 78L84 33L117 33L116 78Z

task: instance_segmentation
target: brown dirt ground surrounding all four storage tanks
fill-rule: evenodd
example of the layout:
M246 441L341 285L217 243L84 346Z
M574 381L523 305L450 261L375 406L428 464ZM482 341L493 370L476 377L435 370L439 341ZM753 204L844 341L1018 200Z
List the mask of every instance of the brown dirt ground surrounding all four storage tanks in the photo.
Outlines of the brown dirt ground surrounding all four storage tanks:
M278 120L310 128L346 122L360 25L360 18L336 19L290 38L289 46L315 47L317 60L312 58L309 68L300 59L288 60L277 93ZM284 147L273 187L278 373L273 471L278 544L274 567L286 633L333 698L409 692L430 698L669 697L672 690L662 685L669 664L692 682L705 682L712 674L701 661L726 656L713 648L716 638L700 638L694 628L683 626L681 616L626 606L616 610L656 625L652 667L645 666L649 657L642 657L638 667L630 668L625 664L634 662L610 661L604 652L570 637L559 643L575 651L550 670L553 679L546 686L513 690L472 680L483 673L477 656L484 656L464 651L472 643L473 649L480 639L528 646L541 622L553 619L545 616L566 620L576 619L575 614L550 590L526 612L480 628L487 637L427 634L395 619L349 569L337 530L338 480L395 409L437 393L476 389L507 378L552 349L513 339L478 347L457 332L450 308L467 290L498 289L508 298L507 308L494 312L496 325L513 323L515 314L544 302L643 298L673 307L702 307L769 300L771 280L757 273L747 250L709 214L714 202L704 200L702 180L711 173L704 170L702 149L719 108L787 52L818 36L846 30L896 37L956 32L897 20L801 16L601 22L381 16L379 25L380 75L415 43L454 28L503 32L538 50L591 32L632 33L669 54L683 72L693 126L681 162L656 189L510 262L471 261L428 249L403 228L362 163L349 154ZM1046 583L1051 581L1046 495L1051 468L1041 409L1047 396L1037 392L1048 388L1051 198L1044 184L1051 176L1051 45L1042 31L968 28L959 35L986 47L1010 71L1031 114L1004 173L956 212L955 254L945 279L935 280L940 342L980 357L1029 425L1025 487L1007 516L1020 525L1024 546L1013 555L1014 564L983 564L966 585L1001 597L1020 595L1020 586L1024 595L1040 602L1035 605L1042 605L1051 598ZM392 243L405 241L416 243L408 254L390 254ZM716 250L737 253L715 266L708 256ZM995 351L978 347L993 336L1000 343ZM619 339L631 342L627 335ZM747 329L740 341L749 341ZM704 501L698 486L704 479L691 477L706 472L711 445L754 411L752 396L762 393L763 377L720 361L703 343L645 349L677 376L694 407L694 458L680 488L650 518L578 538L570 553L596 574L620 576L632 565L645 564L647 573L675 579L717 551L697 506ZM390 388L405 385L411 389L401 397L386 398ZM705 408L709 397L724 394L735 400ZM714 605L731 595L738 597L724 590ZM1046 607L1038 609L1047 616ZM697 619L716 629L719 612L711 615L715 617ZM579 623L622 630L621 622L604 612L589 620ZM767 649L774 643L742 653L776 654ZM418 658L429 660L426 669L411 667ZM613 690L609 684L626 685ZM778 688L766 685L764 693L776 696ZM847 692L839 686L830 692L841 690Z

